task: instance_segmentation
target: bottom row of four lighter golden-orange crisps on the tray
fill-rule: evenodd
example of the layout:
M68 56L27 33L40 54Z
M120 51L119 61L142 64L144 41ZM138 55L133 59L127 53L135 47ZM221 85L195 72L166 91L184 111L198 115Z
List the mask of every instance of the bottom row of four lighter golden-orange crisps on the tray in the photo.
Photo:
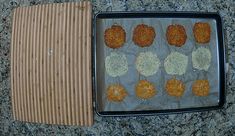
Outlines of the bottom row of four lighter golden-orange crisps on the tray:
M182 97L185 92L185 85L182 81L175 78L167 80L165 91L168 95L174 97ZM192 94L195 96L208 96L210 85L208 80L196 80L192 85ZM135 85L135 94L139 99L150 99L158 94L156 86L148 80L140 80ZM107 87L106 96L111 102L123 101L128 92L121 84L111 84Z

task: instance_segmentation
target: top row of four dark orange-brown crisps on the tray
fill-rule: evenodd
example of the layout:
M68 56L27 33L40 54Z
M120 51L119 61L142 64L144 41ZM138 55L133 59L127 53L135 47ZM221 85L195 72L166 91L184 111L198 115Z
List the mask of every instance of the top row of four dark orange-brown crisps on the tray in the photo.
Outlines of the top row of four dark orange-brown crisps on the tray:
M208 43L210 41L211 28L206 22L197 22L193 27L195 41L198 43ZM156 32L152 26L145 24L137 25L133 31L132 41L139 47L149 47L152 45ZM184 26L180 24L169 25L166 31L166 38L169 45L181 47L187 40ZM105 43L108 47L120 48L126 42L126 32L120 25L112 25L104 33Z

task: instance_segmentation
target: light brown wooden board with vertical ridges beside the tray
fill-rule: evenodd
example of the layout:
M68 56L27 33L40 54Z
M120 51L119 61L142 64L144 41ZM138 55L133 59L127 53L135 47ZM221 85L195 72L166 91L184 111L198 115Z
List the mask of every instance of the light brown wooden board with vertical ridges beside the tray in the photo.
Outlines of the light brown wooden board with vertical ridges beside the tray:
M88 1L14 10L11 41L14 119L93 124L91 13Z

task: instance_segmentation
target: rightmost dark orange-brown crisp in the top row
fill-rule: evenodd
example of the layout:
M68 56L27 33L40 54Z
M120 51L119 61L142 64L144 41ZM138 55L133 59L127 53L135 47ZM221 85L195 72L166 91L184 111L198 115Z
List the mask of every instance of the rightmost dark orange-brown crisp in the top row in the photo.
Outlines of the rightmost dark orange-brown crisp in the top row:
M193 27L193 34L196 42L208 43L211 37L211 28L208 23L197 22Z

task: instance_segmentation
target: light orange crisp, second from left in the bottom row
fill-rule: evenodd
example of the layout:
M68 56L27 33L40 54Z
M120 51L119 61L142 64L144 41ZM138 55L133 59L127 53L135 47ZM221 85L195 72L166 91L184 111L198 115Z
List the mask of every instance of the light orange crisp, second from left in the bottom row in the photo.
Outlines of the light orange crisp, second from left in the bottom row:
M142 99L148 99L156 95L155 87L147 80L140 80L135 86L136 96Z

